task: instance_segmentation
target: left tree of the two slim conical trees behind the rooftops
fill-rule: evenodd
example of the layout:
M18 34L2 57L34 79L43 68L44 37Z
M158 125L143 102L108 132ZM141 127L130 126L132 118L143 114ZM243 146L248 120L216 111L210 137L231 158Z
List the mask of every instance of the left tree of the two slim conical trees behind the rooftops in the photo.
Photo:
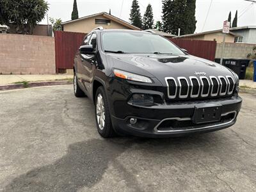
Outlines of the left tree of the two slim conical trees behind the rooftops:
M132 8L131 8L131 13L130 13L130 21L131 21L131 24L136 26L137 28L141 28L142 27L141 14L140 14L140 6L139 6L137 0L133 0L132 1Z

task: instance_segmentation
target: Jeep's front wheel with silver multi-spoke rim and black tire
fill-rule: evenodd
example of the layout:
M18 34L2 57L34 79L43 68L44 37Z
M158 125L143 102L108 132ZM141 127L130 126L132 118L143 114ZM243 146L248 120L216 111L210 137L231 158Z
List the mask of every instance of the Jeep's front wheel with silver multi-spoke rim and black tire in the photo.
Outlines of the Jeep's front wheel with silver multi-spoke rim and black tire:
M108 100L103 86L100 86L95 94L95 120L98 132L102 138L115 136L108 108Z

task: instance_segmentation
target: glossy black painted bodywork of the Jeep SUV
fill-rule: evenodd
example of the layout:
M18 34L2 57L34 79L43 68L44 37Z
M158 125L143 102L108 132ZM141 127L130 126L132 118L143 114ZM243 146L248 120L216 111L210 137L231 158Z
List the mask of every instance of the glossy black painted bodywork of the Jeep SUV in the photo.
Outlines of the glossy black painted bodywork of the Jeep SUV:
M74 71L78 83L86 95L94 102L95 91L98 86L104 86L106 91L111 120L116 132L134 134L136 136L165 137L182 136L192 132L210 132L230 127L231 124L214 127L214 129L198 129L185 132L154 132L153 127L164 118L193 116L195 105L198 103L218 103L223 106L223 113L236 111L241 108L242 99L235 93L232 97L223 98L202 98L202 99L179 99L168 100L166 93L165 77L188 77L194 76L195 72L205 72L209 76L232 76L236 77L230 70L218 63L197 58L189 54L116 54L106 53L102 49L101 33L108 33L114 30L96 30L97 47L95 54L76 53L74 60ZM134 32L134 31L132 31ZM148 33L138 31L137 33ZM140 74L152 79L153 83L140 83L127 81L115 77L113 69L117 68L134 74ZM238 79L236 80L238 81ZM132 93L148 93L154 95L159 102L154 106L134 106L128 103ZM145 129L132 127L129 118L135 117L147 122Z

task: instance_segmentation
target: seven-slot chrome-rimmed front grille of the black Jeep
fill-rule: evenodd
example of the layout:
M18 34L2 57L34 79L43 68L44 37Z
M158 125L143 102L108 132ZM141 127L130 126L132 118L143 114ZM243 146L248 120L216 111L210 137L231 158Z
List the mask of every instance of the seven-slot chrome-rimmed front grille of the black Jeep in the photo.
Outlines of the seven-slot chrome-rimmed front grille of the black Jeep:
M231 76L166 77L169 99L191 99L231 95L235 81ZM189 80L189 81L188 81Z

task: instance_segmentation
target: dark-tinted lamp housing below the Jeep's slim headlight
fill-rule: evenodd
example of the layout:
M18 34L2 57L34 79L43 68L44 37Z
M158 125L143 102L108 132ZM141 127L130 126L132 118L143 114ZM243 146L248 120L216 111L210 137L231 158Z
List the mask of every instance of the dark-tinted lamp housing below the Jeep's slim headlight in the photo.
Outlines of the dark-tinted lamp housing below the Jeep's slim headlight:
M152 106L154 104L154 98L148 94L133 94L129 103L137 106Z

